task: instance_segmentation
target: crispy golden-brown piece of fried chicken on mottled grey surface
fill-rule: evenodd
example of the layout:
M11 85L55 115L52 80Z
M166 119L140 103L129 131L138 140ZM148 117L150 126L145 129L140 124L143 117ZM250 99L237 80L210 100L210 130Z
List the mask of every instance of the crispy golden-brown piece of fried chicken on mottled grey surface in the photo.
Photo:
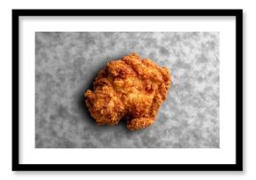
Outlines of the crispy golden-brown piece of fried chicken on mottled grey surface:
M171 83L168 68L139 54L109 61L85 93L88 111L97 125L115 126L120 120L138 130L154 124Z

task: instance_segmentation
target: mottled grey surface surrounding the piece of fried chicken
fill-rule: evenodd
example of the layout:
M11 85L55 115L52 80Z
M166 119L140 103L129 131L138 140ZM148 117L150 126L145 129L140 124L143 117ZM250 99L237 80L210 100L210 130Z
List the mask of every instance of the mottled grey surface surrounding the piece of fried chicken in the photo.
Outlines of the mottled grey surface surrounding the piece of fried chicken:
M84 92L132 52L168 67L154 126L96 126ZM35 32L35 148L219 148L219 32Z

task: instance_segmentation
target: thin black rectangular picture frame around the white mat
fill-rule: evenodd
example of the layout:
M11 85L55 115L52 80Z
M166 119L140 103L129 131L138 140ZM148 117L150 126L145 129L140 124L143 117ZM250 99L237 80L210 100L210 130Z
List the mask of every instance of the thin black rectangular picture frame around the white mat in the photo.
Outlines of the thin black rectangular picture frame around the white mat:
M236 18L235 164L20 164L19 17L24 16L196 16ZM237 72L239 75L237 76ZM243 10L12 10L12 170L14 171L241 171L243 170Z

